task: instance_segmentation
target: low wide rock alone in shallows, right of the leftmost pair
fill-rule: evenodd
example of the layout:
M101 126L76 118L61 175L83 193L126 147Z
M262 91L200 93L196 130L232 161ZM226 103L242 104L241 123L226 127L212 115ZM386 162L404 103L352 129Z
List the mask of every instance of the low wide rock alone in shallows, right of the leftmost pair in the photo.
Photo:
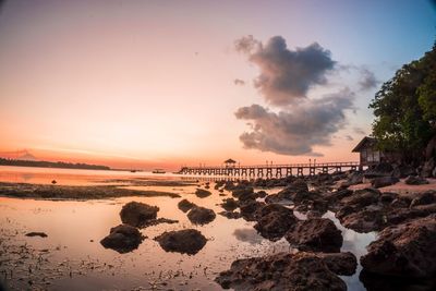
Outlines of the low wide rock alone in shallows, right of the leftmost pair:
M195 255L202 250L207 240L195 229L164 232L155 238L166 252L177 252Z

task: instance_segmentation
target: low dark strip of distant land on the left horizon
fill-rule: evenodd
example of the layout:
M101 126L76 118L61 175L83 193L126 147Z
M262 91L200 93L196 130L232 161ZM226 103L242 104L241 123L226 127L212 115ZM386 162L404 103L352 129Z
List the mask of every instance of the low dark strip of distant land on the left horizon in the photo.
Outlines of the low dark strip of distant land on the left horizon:
M0 158L0 166L16 167L40 167L40 168L61 168L61 169L84 169L84 170L111 170L108 166L88 165L81 162L46 161L46 160L20 160Z

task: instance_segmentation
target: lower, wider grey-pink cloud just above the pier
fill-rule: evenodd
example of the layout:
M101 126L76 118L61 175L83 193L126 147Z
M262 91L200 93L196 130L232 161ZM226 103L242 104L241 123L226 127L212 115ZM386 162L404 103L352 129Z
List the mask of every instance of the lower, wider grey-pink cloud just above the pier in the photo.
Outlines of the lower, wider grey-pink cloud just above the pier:
M322 156L313 147L330 145L332 134L347 124L344 110L353 109L353 98L354 94L344 88L319 99L305 99L278 113L259 105L239 108L235 117L252 123L240 141L244 148L262 151Z

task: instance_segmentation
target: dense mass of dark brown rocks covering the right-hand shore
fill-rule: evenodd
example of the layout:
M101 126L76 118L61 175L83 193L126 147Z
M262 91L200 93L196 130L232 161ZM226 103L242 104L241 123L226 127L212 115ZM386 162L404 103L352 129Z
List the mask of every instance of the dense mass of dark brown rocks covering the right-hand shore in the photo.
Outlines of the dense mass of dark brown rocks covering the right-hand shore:
M408 194L379 190L404 178L412 187L428 183L390 165L365 172L217 183L233 196L223 201L222 208L234 210L238 205L245 220L255 221L254 229L262 237L271 241L286 238L298 251L235 260L216 281L234 290L347 290L339 275L354 274L358 258L341 253L341 231L323 218L329 210L346 228L378 232L360 258L361 280L367 290L390 290L377 289L384 284L374 282L398 279L407 280L404 286L425 282L420 290L435 290L436 189L411 189ZM364 182L371 187L349 190ZM266 197L254 191L275 186L283 189ZM299 219L294 211L305 219Z

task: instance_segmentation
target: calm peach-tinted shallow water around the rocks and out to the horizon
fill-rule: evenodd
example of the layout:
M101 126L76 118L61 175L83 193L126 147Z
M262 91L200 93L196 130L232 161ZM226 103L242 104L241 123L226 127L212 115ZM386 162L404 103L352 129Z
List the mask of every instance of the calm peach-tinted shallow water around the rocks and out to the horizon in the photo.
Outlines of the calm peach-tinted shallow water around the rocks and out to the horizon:
M12 169L13 168L13 169ZM156 179L146 173L58 170L3 167L0 181L60 184L105 184L117 179ZM180 179L160 177L159 179ZM134 187L134 186L133 186ZM277 252L293 252L283 239L270 242L259 237L253 222L227 219L220 215L209 225L194 226L177 204L187 198L199 206L222 210L217 191L207 198L194 195L196 186L149 186L177 192L181 198L125 197L88 202L35 201L0 197L0 278L13 290L221 290L214 282L218 272L237 258L262 256ZM213 186L211 186L213 189ZM270 190L270 193L279 190ZM225 192L228 196L230 193ZM142 230L147 237L132 253L119 254L106 250L99 241L110 228L121 223L121 207L131 201L156 205L158 217L179 220L175 225L159 225ZM358 256L375 239L374 233L359 234L342 228L331 213L326 214L342 230L342 251ZM153 238L164 231L198 229L207 239L196 255L167 253ZM48 238L27 238L29 231L44 231ZM11 272L12 270L12 272ZM349 290L365 290L359 271L342 277Z

